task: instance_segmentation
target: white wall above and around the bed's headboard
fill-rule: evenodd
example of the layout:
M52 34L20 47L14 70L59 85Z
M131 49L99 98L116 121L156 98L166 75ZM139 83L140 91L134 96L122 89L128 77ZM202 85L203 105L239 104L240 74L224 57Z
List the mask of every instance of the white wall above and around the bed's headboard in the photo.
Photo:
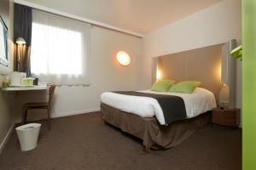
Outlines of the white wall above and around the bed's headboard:
M224 0L148 33L143 39L143 79L151 83L151 59L236 39L241 43L241 0ZM237 107L241 107L241 62L237 64Z

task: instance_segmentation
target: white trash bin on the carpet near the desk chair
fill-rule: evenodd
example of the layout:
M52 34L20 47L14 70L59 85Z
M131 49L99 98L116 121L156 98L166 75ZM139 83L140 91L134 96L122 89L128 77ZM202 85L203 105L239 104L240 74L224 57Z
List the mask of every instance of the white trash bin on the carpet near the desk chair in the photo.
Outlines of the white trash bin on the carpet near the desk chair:
M40 127L39 123L29 123L15 128L20 141L20 150L27 151L37 147Z

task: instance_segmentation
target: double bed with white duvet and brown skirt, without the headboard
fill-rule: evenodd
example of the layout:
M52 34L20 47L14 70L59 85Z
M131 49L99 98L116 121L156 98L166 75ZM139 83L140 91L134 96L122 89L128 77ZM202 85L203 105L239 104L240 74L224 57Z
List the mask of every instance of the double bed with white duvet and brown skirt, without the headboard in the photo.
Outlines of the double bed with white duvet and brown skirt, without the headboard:
M214 94L205 88L196 88L193 94L139 91L142 96L105 92L101 95L102 116L105 122L143 139L147 150L168 149L183 142L196 130L207 124L208 111L216 107ZM143 94L178 96L186 110L184 119L166 123L158 101Z

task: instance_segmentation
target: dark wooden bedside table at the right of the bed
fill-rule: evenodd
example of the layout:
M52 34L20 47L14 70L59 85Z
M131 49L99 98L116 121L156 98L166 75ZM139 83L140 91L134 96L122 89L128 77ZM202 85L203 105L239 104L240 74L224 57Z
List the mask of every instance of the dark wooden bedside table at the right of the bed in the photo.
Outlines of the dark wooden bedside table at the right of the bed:
M212 123L238 127L240 125L240 109L215 108L212 110Z

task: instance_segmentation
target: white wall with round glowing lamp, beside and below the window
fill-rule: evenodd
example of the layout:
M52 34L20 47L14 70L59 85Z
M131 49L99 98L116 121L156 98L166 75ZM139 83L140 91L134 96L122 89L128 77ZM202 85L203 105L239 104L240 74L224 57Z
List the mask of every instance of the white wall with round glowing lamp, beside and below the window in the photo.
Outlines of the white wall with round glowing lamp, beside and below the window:
M100 95L109 90L136 90L137 69L141 57L142 39L94 26L91 32L90 87L56 88L53 116L67 116L100 108ZM131 56L131 65L120 66L115 59L119 50ZM19 93L16 97L16 121L25 102L44 100L43 92ZM42 116L41 113L29 114ZM35 118L35 117L31 117Z

